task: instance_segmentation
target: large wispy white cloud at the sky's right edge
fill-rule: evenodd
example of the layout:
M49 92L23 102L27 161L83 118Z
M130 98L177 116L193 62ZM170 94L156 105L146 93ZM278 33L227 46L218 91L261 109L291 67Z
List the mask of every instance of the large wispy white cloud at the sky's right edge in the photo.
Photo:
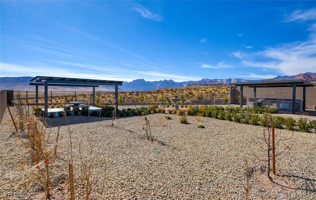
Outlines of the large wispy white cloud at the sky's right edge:
M294 11L285 22L316 20L316 9ZM316 72L316 23L310 24L310 34L307 41L296 41L267 48L252 54L232 53L247 67L257 67L261 70L274 70L284 75L304 72Z

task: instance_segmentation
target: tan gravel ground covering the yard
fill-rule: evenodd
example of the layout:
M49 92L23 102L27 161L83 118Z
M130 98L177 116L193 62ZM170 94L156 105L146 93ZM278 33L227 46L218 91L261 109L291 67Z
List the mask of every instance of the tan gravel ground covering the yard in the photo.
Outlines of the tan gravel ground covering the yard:
M172 119L166 120L167 115ZM84 164L91 164L90 199L245 199L247 171L249 199L316 199L315 133L276 130L282 138L290 138L280 143L280 149L292 145L276 160L276 174L283 175L288 188L269 191L270 187L255 177L267 171L267 164L259 160L265 158L266 152L261 152L255 143L260 141L262 127L193 116L186 116L188 123L181 124L180 117L149 115L154 141L146 139L145 121L139 116L119 118L114 127L112 118L68 117L69 127L59 129L58 158L49 164L53 198L70 198L70 128L76 199L84 199L86 194L80 172ZM36 178L39 171L32 169L30 149L25 145L25 133L11 135L14 126L10 122L6 111L0 124L1 198L44 199ZM58 125L65 125L65 118L48 122L52 128L45 133L55 140ZM205 128L197 128L199 124Z

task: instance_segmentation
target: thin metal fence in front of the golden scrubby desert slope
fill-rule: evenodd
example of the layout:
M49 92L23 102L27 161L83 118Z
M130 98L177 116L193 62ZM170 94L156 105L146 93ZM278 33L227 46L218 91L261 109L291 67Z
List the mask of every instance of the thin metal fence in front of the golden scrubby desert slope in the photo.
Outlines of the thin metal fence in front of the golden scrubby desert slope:
M44 103L44 92L39 92L39 103ZM14 98L26 104L36 102L35 91L14 91ZM172 98L179 98L179 104L221 104L230 103L230 93L197 93L182 92L176 89L169 92L161 91L133 91L119 92L118 104L171 104ZM49 91L49 104L65 104L69 101L92 103L92 92ZM113 104L115 92L95 92L95 102Z

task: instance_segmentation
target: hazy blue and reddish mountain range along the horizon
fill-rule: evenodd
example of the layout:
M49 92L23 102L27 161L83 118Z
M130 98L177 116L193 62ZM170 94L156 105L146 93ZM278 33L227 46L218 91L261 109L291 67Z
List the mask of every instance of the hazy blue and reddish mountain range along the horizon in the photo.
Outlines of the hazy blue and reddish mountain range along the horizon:
M33 77L23 76L23 77L0 77L0 90L14 90L14 91L34 91L35 87L29 85L30 80ZM119 86L120 91L139 91L139 90L157 90L159 88L182 88L188 85L197 84L230 84L230 83L241 83L249 81L276 81L276 80L293 80L302 79L305 81L316 82L316 73L300 73L292 76L277 76L271 79L264 80L246 80L241 78L228 78L228 79L208 79L203 78L199 81L184 81L184 82L174 82L173 80L160 80L160 81L146 81L144 79L136 79L131 82L123 82L122 86ZM41 90L41 87L40 87ZM51 86L49 90L52 91L91 91L91 88L82 87L57 87ZM96 88L96 91L114 91L113 86L100 86Z

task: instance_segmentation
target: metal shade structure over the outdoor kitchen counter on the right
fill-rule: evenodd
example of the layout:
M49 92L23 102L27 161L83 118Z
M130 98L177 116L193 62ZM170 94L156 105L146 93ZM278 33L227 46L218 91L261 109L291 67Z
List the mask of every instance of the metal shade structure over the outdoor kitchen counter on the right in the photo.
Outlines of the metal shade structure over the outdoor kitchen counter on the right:
M295 114L295 101L296 101L296 87L303 87L303 109L305 111L305 100L306 100L306 87L314 87L316 84L302 80L282 80L282 81L259 81L259 82L243 82L243 83L231 83L230 85L240 87L240 107L242 108L242 90L243 86L253 88L253 97L256 97L256 88L267 88L267 87L292 87L292 114Z

